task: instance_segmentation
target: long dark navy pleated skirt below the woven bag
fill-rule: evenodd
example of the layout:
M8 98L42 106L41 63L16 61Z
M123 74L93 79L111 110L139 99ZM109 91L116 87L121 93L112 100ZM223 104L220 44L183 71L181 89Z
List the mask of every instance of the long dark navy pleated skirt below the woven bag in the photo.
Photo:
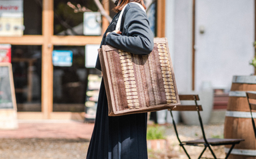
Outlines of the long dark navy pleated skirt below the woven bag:
M147 113L108 116L102 79L96 121L86 159L148 159L146 131Z

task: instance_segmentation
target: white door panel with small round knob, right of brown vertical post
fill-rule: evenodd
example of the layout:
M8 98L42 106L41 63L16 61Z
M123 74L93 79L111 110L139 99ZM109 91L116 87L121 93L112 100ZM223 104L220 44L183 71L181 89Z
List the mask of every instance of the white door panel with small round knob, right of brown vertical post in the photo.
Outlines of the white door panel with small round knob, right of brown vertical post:
M254 0L196 0L197 90L203 81L229 89L233 75L253 73L254 27Z

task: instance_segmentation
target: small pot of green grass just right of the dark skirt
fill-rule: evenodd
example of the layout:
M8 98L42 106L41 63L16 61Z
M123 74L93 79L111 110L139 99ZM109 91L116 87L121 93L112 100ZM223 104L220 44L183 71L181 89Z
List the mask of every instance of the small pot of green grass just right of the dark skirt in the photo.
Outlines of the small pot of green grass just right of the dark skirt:
M147 147L149 150L166 152L165 127L159 125L148 126Z

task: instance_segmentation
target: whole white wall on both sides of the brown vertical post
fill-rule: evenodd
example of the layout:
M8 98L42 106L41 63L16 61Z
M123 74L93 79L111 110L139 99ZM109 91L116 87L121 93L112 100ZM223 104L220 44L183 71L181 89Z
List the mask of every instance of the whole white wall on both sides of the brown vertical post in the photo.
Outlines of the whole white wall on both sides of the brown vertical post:
M192 0L166 0L165 26L178 92L190 92ZM196 90L204 81L230 89L233 75L253 73L254 0L196 0L195 38Z

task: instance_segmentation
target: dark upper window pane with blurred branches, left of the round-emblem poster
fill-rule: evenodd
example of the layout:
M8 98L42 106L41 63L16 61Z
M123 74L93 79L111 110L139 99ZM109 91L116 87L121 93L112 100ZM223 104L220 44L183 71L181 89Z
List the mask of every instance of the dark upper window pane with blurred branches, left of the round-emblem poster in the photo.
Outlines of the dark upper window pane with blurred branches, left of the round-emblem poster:
M84 35L84 11L75 11L68 5L69 1L76 8L81 6L86 7L87 11L98 10L94 0L54 0L54 34Z

